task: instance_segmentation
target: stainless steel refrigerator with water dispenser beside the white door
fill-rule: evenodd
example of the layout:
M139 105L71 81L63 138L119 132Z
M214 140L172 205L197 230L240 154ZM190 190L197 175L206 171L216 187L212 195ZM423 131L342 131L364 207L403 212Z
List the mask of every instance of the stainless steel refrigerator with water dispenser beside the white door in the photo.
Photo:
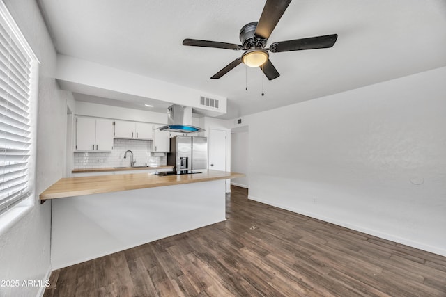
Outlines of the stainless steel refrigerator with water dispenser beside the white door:
M208 169L208 138L199 136L170 138L167 165L174 166L176 173Z

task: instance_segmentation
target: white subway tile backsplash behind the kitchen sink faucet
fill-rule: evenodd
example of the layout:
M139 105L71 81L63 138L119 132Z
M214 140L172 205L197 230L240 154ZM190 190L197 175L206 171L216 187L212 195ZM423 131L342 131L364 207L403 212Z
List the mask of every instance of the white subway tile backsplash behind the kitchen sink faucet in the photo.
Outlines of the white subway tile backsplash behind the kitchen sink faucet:
M130 154L124 159L127 150L133 152L134 166L165 166L167 156L154 156L151 153L152 141L114 139L112 152L75 152L75 169L109 168L130 166ZM157 153L160 154L160 153Z

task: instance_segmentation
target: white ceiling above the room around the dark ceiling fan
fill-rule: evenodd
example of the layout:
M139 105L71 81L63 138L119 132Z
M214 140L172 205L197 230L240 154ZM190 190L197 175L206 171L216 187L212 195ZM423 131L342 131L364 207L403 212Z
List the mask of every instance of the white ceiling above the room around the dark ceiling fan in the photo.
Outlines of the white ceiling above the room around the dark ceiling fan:
M339 37L330 49L270 54L281 74L272 81L243 64L210 79L243 51L182 45L184 38L240 44L240 28L259 20L264 1L38 3L59 53L227 97L228 113L220 118L446 66L446 0L294 0L268 45L333 33ZM118 97L110 98L101 103L116 104Z

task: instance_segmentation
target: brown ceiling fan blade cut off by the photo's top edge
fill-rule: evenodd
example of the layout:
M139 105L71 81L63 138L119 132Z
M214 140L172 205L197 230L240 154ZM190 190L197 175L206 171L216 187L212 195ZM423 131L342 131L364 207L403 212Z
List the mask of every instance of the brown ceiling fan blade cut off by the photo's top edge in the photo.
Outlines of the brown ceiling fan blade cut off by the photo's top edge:
M255 35L268 39L291 0L266 0Z

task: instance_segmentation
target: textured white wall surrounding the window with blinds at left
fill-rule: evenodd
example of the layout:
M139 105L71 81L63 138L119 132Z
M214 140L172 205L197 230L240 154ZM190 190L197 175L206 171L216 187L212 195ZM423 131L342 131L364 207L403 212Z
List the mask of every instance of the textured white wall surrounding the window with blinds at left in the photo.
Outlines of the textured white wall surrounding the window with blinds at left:
M36 1L4 0L40 61L36 203L15 223L1 226L0 280L46 280L49 259L51 203L40 204L38 194L62 177L65 168L66 101L54 80L56 53ZM1 287L0 296L36 296L45 287Z

